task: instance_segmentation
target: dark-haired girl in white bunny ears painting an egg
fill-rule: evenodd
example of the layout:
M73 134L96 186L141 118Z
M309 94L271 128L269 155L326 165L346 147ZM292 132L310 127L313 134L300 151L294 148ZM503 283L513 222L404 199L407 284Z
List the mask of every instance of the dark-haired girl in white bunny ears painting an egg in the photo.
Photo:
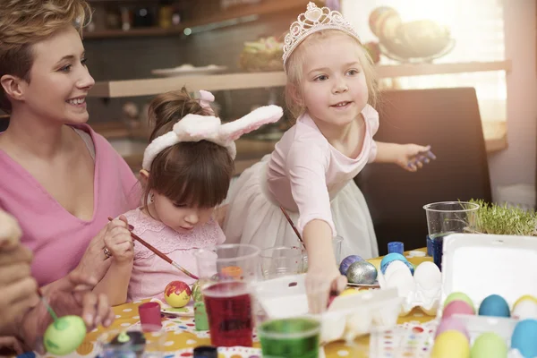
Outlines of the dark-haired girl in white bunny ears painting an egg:
M212 100L207 91L200 91L197 100L183 88L151 102L149 119L155 126L140 173L143 205L124 214L134 234L193 275L193 252L226 239L214 215L226 199L234 172L234 140L283 115L281 107L260 107L220 124L209 106ZM170 281L194 283L140 243L111 255L115 262L99 286L113 304L161 296Z

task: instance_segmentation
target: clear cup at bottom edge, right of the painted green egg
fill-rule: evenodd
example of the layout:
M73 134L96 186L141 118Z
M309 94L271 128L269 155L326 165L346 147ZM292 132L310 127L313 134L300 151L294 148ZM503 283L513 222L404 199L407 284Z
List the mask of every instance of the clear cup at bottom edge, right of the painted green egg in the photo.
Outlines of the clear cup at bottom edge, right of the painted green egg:
M100 358L163 357L166 335L167 332L161 326L149 324L107 330L98 337L98 356Z

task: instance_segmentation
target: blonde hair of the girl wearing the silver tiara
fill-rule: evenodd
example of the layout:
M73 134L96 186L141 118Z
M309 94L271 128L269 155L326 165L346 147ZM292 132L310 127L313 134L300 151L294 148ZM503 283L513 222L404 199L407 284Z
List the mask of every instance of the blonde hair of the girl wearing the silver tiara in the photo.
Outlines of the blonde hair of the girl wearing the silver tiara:
M302 96L301 83L303 81L303 65L304 65L304 50L312 44L319 42L322 39L329 38L331 36L345 35L349 38L353 38L356 44L359 46L360 62L365 74L365 81L367 84L367 90L369 94L368 103L375 107L379 100L379 86L375 71L373 69L373 61L369 52L362 46L362 43L356 38L349 36L341 30L320 30L312 33L306 38L294 50L293 54L289 57L286 63L287 83L286 83L286 105L294 119L303 114L305 108L297 103L296 96Z

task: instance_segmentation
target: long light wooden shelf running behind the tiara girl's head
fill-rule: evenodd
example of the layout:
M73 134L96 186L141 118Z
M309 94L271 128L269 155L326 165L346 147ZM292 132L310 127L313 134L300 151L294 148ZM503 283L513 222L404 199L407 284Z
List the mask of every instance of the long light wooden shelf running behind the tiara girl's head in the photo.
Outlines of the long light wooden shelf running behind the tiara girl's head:
M511 61L461 64L399 64L377 66L379 78L421 76L464 72L511 70ZM186 86L189 90L251 90L286 85L285 72L245 72L152 78L146 80L99 81L90 90L90 97L124 98L153 96Z

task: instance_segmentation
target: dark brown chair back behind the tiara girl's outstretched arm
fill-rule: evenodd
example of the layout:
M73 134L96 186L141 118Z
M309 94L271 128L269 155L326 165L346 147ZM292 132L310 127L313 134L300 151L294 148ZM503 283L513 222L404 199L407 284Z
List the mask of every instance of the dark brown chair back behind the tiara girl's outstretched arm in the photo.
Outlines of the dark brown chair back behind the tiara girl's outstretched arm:
M437 160L417 173L392 164L365 166L354 180L375 226L380 254L388 243L424 247L423 205L444 200L491 201L482 122L472 88L390 90L381 95L376 141L431 145Z

